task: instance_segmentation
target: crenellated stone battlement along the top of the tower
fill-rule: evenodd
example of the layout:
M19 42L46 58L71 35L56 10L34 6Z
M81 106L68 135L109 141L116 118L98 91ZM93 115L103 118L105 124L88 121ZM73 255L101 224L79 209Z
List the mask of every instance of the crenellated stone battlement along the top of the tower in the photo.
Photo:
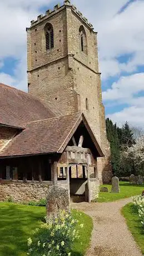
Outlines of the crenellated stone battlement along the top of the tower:
M44 15L43 15L43 14L40 14L40 15L37 17L37 20L36 20L36 21L34 21L34 20L31 21L31 27L34 26L34 25L36 25L38 22L42 21L43 19L46 19L48 16L51 17L52 15L54 15L55 13L57 13L58 11L60 11L61 9L63 9L65 6L71 7L71 8L72 8L72 11L73 11L75 14L77 14L77 16L80 17L80 18L82 19L82 21L85 22L88 27L90 27L90 29L93 30L92 24L91 24L91 23L88 23L87 18L84 17L84 16L82 15L82 13L77 10L77 8L76 8L75 6L71 5L71 1L70 1L70 0L65 0L63 6L61 6L59 3L56 4L56 6L54 6L53 10L48 9L48 10L46 11L46 14L44 14Z

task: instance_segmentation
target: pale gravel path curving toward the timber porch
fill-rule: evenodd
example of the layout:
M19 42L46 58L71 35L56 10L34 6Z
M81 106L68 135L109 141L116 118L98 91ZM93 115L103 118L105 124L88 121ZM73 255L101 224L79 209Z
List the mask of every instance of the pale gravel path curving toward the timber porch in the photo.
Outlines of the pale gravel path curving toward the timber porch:
M130 201L72 203L72 208L84 211L93 219L91 247L86 256L142 256L120 213Z

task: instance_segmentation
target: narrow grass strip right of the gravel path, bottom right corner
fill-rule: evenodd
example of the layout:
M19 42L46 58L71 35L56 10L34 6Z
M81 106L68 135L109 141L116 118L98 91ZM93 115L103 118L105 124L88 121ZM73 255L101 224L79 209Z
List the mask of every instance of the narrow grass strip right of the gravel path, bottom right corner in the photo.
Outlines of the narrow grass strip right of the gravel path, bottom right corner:
M144 232L135 205L132 203L127 204L122 208L121 212L126 218L128 229L139 245L142 254L144 254Z

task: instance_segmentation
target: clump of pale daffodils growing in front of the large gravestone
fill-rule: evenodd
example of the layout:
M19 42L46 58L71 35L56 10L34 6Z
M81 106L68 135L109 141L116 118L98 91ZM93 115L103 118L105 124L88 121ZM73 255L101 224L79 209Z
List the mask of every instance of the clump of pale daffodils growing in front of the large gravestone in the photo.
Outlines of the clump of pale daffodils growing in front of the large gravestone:
M33 240L28 238L28 253L31 256L70 256L75 239L79 238L76 224L71 214L59 211L56 218L47 219L40 229L36 229ZM83 227L83 224L80 225Z

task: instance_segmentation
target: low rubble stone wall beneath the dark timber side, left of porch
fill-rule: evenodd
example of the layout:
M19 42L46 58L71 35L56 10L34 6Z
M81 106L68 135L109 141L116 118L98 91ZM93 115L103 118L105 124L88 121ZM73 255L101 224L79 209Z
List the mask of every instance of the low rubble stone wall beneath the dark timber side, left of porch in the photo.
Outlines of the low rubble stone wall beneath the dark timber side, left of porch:
M14 201L38 201L46 198L49 183L29 181L1 181L0 183L0 201L7 200L10 196Z

